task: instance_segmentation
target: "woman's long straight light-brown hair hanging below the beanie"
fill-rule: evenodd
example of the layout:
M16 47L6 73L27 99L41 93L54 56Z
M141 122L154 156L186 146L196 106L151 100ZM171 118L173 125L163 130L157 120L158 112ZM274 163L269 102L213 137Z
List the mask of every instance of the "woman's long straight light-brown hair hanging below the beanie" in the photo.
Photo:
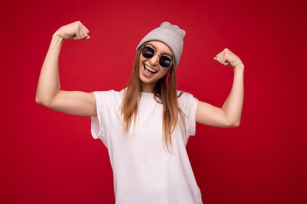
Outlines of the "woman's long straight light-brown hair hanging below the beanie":
M131 79L127 90L125 91L124 99L120 108L120 113L123 117L123 126L125 133L128 132L132 121L135 123L136 116L138 113L138 103L140 99L141 80L139 77L139 59L141 49L136 52ZM175 60L173 59L173 62ZM168 82L166 82L168 79ZM175 65L172 65L169 74L166 74L160 78L154 87L155 100L163 104L163 137L164 142L167 146L172 147L172 133L174 132L177 122L179 121L178 116L180 115L183 127L185 130L184 113L181 111L178 105L178 97L181 93L177 94L177 82L176 82L176 70Z

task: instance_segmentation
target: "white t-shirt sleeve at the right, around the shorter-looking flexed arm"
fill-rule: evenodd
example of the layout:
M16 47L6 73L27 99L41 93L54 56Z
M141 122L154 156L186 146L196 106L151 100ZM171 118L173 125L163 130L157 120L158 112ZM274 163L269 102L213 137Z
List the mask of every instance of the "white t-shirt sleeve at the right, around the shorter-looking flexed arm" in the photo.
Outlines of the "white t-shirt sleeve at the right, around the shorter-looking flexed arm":
M196 108L198 99L192 94L183 92L179 96L179 108L184 113L186 133L189 136L195 136L196 133Z

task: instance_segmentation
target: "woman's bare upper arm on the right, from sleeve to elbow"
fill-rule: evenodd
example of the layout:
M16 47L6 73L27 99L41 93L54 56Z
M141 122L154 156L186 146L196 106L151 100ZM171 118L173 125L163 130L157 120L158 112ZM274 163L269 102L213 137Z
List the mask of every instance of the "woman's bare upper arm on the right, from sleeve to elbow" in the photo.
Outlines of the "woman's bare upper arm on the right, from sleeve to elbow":
M214 127L228 127L223 109L203 101L198 101L196 122Z

